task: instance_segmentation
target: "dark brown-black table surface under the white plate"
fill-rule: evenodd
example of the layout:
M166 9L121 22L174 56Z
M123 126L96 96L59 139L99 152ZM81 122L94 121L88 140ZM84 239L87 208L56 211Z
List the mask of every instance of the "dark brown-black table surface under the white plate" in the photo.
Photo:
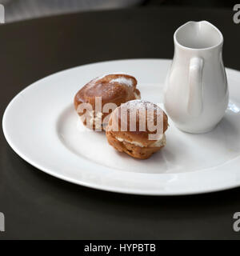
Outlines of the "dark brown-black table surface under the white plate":
M0 26L1 115L15 94L48 74L90 62L172 58L174 30L208 20L225 37L226 66L240 70L232 10L115 10ZM240 85L239 85L240 86ZM91 190L42 173L0 138L0 239L239 239L240 188L182 197Z

